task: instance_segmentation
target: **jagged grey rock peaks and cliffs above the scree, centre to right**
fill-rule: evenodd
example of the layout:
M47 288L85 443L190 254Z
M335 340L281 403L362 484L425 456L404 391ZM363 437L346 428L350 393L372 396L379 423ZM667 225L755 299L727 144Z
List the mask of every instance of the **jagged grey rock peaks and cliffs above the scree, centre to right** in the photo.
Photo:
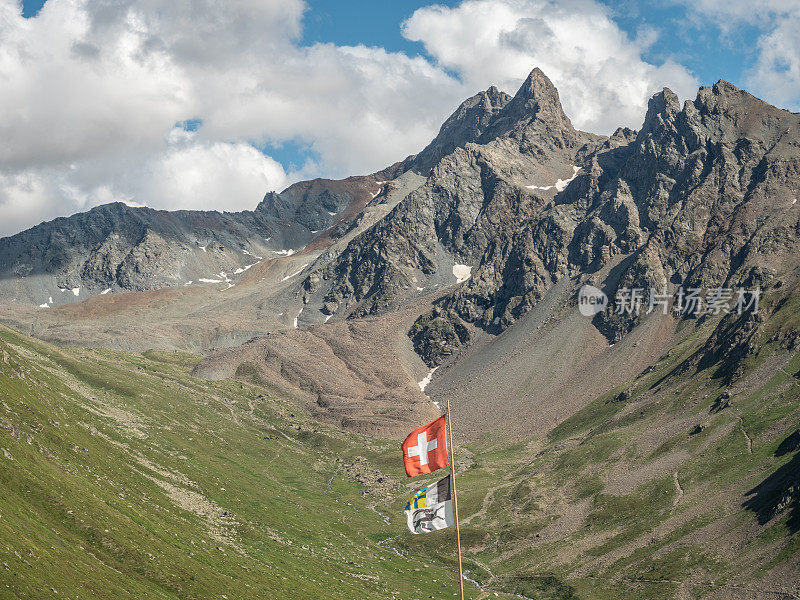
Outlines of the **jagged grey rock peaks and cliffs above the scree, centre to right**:
M797 263L799 129L798 115L721 81L682 107L665 89L640 132L601 138L572 127L534 70L476 142L327 268L327 310L389 310L453 263L472 266L409 334L435 365L468 341L468 324L500 332L555 281L612 261L612 295L764 284ZM638 322L613 306L595 319L610 342Z

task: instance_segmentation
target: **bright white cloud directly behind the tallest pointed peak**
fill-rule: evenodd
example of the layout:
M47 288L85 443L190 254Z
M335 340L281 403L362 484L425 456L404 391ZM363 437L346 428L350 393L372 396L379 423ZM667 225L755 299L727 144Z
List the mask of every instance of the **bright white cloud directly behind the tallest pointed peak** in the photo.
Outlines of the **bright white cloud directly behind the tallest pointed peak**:
M697 82L672 62L642 59L653 32L630 39L605 7L591 0L467 0L417 10L405 35L422 42L468 87L495 83L513 93L531 66L558 87L567 115L580 128L611 133L638 128L647 99L662 87L687 97Z

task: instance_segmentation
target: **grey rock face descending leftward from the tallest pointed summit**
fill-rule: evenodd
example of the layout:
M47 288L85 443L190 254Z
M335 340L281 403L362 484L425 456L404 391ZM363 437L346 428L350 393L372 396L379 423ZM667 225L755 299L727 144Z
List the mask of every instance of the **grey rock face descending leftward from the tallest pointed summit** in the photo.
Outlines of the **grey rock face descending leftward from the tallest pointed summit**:
M512 123L520 114L522 120ZM605 141L572 127L555 87L541 72L532 73L479 139L482 143L466 143L440 160L421 188L350 243L326 269L331 286L325 302L352 315L374 314L399 305L434 274L451 283L447 271L454 262L474 266L486 260L487 252L499 256L498 250L508 249L554 193L530 192L523 183L544 188L568 179L579 152ZM547 226L574 227L558 212ZM486 271L486 285L502 278L501 271L493 276Z

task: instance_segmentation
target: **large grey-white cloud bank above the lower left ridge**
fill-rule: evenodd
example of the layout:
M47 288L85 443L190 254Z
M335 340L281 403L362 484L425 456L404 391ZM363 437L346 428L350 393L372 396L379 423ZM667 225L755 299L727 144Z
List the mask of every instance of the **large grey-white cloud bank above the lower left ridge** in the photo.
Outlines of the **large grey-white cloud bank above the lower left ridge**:
M463 86L423 58L302 46L301 0L0 0L0 234L122 200L252 208L417 151ZM431 106L433 107L431 109ZM197 119L183 135L176 123ZM318 158L287 173L255 147Z

